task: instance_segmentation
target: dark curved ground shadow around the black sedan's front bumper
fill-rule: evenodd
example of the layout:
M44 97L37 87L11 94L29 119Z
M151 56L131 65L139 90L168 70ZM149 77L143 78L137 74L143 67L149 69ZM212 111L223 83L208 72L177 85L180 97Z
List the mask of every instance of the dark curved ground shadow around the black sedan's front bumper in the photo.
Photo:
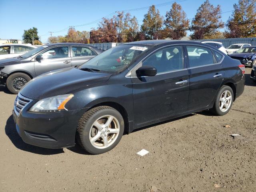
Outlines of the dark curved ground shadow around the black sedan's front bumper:
M30 144L26 144L17 133L16 126L14 124L14 120L12 116L10 116L6 121L5 134L9 137L9 139L12 141L12 143L16 148L23 151L40 154L40 155L53 155L53 154L64 153L63 149L46 149L46 148L41 148L41 147L33 146Z

